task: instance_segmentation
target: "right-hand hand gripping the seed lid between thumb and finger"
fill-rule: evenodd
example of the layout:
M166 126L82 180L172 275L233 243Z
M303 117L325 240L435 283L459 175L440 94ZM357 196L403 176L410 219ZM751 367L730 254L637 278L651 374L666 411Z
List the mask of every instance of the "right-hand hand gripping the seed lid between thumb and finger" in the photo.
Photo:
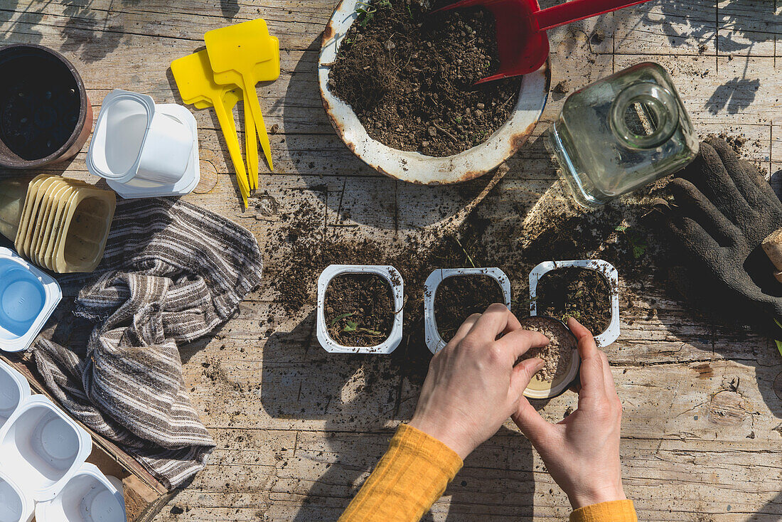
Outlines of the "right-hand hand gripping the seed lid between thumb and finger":
M569 319L568 326L579 340L581 355L578 409L550 424L522 398L513 420L540 453L573 509L578 509L626 498L619 466L622 403L608 359L597 350L590 331L576 319Z

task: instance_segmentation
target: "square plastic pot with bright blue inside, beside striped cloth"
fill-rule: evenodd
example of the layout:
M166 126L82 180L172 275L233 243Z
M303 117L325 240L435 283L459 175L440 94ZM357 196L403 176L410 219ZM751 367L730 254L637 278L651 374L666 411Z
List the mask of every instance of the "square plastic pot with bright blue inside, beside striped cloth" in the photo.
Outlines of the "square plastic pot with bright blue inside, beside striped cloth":
M0 349L26 350L62 298L55 279L0 248Z

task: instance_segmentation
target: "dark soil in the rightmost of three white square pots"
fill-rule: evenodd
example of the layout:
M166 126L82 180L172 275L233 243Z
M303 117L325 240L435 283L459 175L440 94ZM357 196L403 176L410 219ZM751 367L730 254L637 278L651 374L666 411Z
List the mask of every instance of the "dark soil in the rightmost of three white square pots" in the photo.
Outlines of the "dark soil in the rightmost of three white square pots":
M594 335L611 324L611 288L601 272L590 268L557 268L537 284L537 311L566 321L575 318Z

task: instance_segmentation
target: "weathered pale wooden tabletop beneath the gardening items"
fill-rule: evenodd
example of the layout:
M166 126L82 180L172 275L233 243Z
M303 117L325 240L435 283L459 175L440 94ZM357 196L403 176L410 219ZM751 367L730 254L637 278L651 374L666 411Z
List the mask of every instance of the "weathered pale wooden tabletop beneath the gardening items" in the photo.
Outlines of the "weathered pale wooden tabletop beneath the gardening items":
M663 0L553 31L551 85L564 81L557 91L572 92L630 64L658 61L671 70L701 135L744 135L744 153L773 178L782 169L777 3ZM305 203L317 226L301 233L358 233L391 248L436 231L490 179L470 189L395 182L336 139L315 71L334 6L335 0L0 0L0 41L62 52L80 70L97 115L113 88L181 102L170 62L201 48L205 31L264 17L282 51L281 77L258 88L267 125L278 129L271 135L277 171L261 176L263 190L241 211L217 121L195 111L203 182L186 200L252 230L271 282L289 248L280 239L289 233L285 220ZM475 212L516 220L523 233L535 214L561 202L540 136L564 96L552 93L533 138ZM66 175L91 178L86 149ZM607 351L624 405L626 491L641 519L782 520L782 358L767 340L710 324L668 290L630 282L618 268L622 336ZM515 290L525 289L515 280ZM327 355L314 340L312 306L284 313L274 298L264 287L217 336L183 350L185 381L217 450L156 520L335 520L393 427L410 418L418 380L392 358ZM576 396L565 394L543 415L561 419L575 405ZM508 424L468 458L425 520L564 520L568 513L540 457Z

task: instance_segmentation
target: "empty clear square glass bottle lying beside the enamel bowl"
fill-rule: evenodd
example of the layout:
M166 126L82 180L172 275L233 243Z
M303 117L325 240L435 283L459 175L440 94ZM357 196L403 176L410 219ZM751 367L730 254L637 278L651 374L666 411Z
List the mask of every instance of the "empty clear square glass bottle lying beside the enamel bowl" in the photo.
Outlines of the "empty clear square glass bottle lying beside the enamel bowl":
M668 71L646 62L569 95L546 145L576 201L596 207L690 163L698 135Z

